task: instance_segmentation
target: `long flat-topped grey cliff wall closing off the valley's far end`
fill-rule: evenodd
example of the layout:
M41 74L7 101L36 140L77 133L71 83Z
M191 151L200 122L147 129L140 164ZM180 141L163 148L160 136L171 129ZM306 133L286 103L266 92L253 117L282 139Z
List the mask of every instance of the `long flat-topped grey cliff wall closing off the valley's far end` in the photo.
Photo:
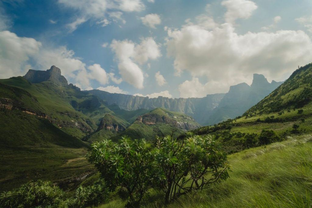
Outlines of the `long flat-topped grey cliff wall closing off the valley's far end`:
M198 123L203 123L207 115L219 105L224 94L207 95L202 98L149 98L133 95L109 93L100 90L90 90L89 92L105 100L108 105L117 104L121 109L132 111L137 109L166 108L170 111L182 112L192 116Z

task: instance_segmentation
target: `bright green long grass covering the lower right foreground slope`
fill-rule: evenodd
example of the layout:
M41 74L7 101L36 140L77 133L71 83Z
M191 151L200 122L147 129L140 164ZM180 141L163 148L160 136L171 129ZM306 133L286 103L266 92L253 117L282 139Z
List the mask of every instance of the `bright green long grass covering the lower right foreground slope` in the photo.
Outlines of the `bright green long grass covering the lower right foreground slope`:
M182 196L168 207L311 207L312 136L244 150L228 156L230 178ZM143 207L164 207L163 194L150 190ZM123 207L120 200L99 206Z

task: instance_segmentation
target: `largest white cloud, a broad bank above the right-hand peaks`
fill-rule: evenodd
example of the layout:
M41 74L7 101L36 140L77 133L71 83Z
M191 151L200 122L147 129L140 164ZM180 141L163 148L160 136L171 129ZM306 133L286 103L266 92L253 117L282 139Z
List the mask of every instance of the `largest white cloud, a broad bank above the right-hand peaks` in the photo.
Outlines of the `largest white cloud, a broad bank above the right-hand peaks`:
M207 88L202 95L227 92L230 85L249 82L252 73L282 81L298 65L311 62L312 42L303 31L239 35L230 23L210 30L187 24L167 31L167 53L174 58L175 74L188 71L192 77L219 83L220 87Z

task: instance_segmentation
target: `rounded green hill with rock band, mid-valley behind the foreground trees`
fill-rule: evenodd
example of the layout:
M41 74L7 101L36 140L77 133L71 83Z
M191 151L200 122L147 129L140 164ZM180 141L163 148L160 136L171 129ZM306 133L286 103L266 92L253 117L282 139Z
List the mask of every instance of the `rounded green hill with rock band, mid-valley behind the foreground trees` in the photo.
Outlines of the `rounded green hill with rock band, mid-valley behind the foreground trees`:
M183 113L168 111L164 108L156 108L148 113L138 116L125 131L112 137L118 140L121 136L130 138L145 138L153 141L156 136L166 136L175 131L175 136L185 131L196 129L200 125L190 116Z

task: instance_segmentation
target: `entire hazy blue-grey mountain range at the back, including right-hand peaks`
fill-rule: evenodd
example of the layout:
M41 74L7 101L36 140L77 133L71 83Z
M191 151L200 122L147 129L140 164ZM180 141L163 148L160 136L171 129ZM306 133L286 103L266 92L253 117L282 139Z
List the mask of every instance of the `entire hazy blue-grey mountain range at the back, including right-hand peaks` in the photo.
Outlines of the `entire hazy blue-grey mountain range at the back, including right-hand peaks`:
M109 105L116 104L124 110L132 111L141 108L152 110L161 107L192 116L201 125L212 125L240 116L281 83L283 82L275 82L274 80L269 83L263 75L254 74L251 86L241 83L231 86L228 93L207 95L202 98L168 98L162 96L149 98L100 90L85 92L100 97Z

